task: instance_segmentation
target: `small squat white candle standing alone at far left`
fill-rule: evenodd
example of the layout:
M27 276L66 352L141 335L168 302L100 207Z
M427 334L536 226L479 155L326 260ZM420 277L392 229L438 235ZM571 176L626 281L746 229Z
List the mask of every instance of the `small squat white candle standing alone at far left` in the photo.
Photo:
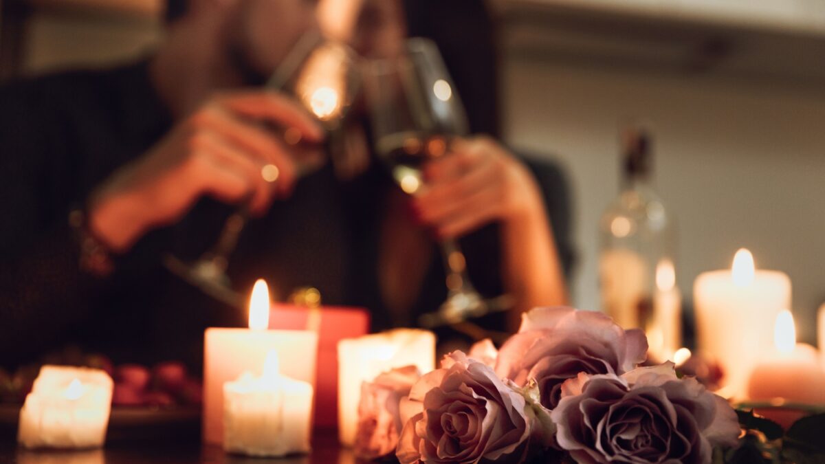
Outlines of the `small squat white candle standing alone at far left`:
M106 440L113 383L106 372L44 366L20 410L24 447L91 448Z

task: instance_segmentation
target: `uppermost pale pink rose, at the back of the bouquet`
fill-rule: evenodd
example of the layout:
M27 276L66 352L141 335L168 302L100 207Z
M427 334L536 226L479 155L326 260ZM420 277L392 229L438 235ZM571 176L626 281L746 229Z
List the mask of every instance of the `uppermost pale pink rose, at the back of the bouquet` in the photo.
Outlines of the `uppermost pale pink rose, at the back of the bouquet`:
M647 357L639 329L623 330L610 317L567 307L535 308L521 315L521 328L498 351L496 373L516 385L535 379L541 404L559 404L564 381L578 375L620 375Z

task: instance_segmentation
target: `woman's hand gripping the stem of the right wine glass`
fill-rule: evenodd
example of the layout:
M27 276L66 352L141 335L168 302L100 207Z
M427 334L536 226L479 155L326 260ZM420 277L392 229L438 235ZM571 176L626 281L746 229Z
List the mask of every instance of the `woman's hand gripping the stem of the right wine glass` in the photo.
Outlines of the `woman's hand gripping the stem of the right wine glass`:
M527 168L495 140L455 139L450 152L424 168L413 211L440 238L455 238L489 222L538 212L541 198Z

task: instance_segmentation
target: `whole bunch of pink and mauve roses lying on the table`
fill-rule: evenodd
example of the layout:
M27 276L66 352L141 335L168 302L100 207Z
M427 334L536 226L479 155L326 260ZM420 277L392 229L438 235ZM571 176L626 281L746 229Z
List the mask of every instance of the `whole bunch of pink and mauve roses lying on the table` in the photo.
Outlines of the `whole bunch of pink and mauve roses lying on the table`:
M441 368L365 383L356 453L413 462L711 462L741 429L733 408L670 362L637 367L640 330L537 308L500 350L488 340Z

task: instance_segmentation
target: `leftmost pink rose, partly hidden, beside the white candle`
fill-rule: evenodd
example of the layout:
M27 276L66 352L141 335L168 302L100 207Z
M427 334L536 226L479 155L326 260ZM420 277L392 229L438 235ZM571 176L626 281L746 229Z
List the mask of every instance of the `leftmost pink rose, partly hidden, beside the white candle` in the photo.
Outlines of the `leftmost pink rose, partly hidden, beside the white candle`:
M384 372L371 383L361 384L355 443L357 457L376 459L395 451L398 433L403 427L398 403L409 395L419 378L418 368L407 366Z

